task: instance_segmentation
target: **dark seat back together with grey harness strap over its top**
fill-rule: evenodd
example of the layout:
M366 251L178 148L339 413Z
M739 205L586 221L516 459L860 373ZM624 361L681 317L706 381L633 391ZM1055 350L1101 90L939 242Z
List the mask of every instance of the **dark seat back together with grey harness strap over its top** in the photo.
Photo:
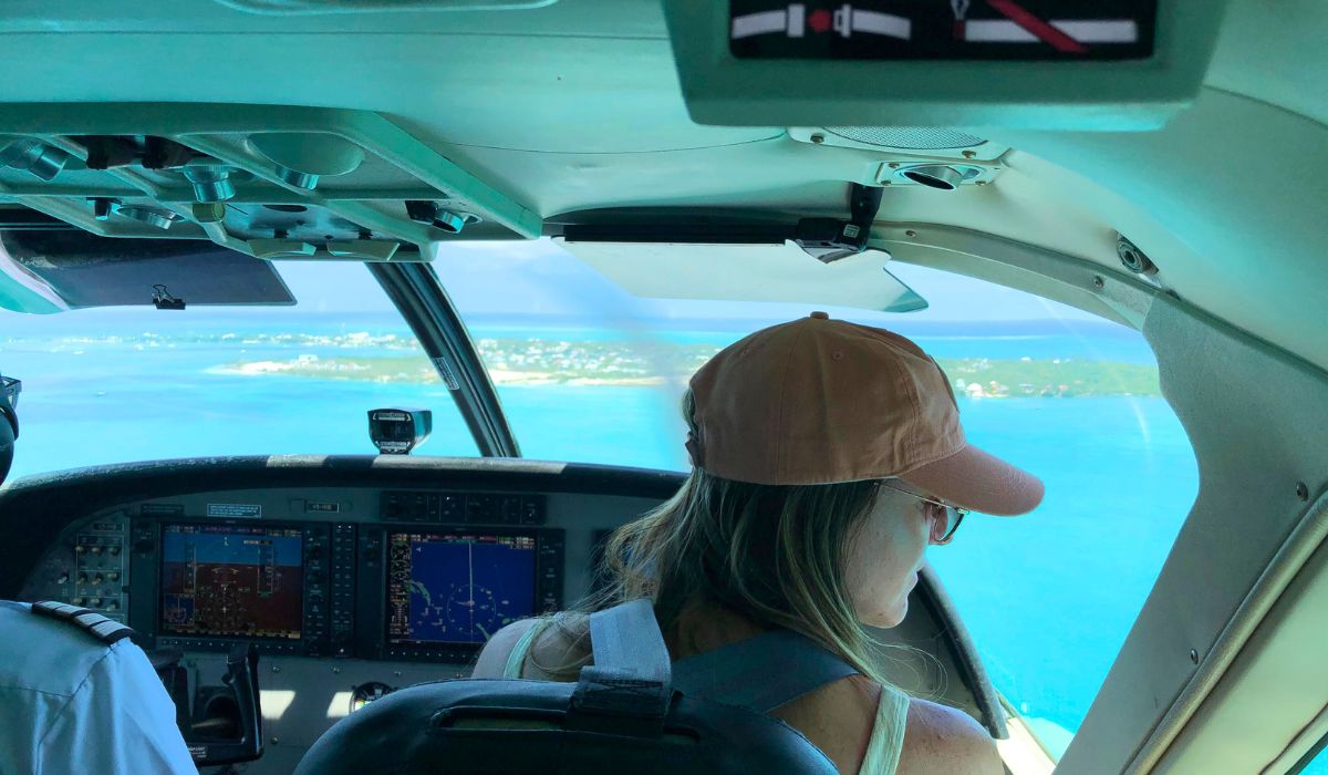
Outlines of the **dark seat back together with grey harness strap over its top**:
M797 638L777 635L766 651L797 662L805 649L790 645ZM760 639L736 646L748 643L756 654ZM730 678L714 657L671 666L645 600L592 614L591 647L595 665L583 667L576 683L463 679L396 691L337 722L296 775L835 772L825 754L761 706L851 673L842 662L822 659L807 670L786 663L799 681L776 681L769 663L765 674L745 666ZM675 669L688 691L675 685ZM749 682L784 689L757 690ZM734 691L736 702L724 702Z

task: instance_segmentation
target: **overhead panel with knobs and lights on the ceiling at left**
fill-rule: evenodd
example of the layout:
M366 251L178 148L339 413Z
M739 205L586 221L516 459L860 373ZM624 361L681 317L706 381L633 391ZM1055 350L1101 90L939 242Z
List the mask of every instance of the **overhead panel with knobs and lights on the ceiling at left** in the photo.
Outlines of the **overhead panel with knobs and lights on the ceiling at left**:
M429 261L540 218L377 113L8 105L0 206L100 237L210 239L264 259Z

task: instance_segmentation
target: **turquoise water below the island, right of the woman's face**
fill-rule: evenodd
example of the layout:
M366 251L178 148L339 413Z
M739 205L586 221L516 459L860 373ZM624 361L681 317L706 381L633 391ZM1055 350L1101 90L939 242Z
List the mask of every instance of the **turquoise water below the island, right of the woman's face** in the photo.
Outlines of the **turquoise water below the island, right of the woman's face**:
M964 401L963 419L1046 498L1025 517L971 516L931 562L996 687L1074 730L1194 502L1193 452L1161 399Z

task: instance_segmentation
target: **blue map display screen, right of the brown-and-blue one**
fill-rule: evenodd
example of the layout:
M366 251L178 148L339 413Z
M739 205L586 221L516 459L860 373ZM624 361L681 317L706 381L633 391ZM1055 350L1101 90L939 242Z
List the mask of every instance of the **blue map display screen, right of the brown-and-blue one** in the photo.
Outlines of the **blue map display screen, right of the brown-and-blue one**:
M535 614L534 536L388 536L388 641L483 643Z

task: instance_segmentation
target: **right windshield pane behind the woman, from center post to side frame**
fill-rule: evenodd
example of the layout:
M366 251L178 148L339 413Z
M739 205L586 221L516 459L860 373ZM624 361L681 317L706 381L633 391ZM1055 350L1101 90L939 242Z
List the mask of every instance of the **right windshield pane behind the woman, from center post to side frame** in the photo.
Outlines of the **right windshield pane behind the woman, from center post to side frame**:
M818 308L641 299L547 241L454 246L436 269L523 453L551 460L684 471L691 374ZM951 378L968 437L1046 483L1035 513L971 517L931 562L996 689L1058 756L1194 501L1194 453L1137 331L980 280L888 269L931 307L827 311L915 339Z

